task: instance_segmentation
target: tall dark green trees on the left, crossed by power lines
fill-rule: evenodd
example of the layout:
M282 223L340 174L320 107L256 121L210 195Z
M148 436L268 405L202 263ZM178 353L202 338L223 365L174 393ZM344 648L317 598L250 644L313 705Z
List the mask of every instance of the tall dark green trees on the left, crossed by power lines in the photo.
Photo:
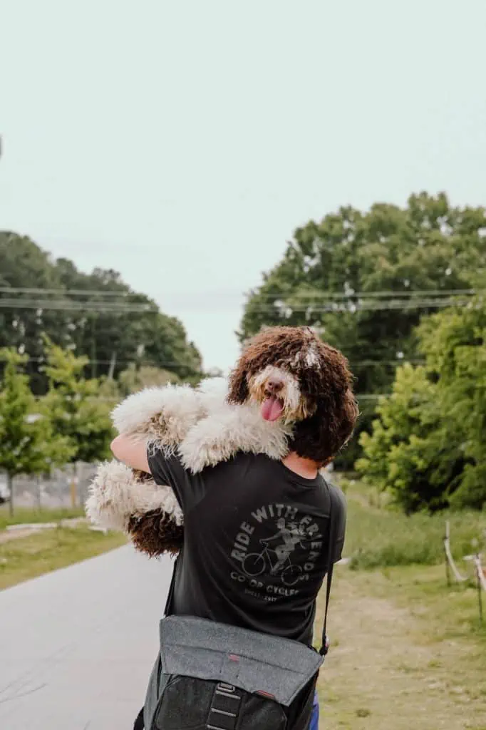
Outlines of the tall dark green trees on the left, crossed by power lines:
M187 380L197 380L201 372L201 356L188 342L180 320L132 291L115 271L84 274L69 259L53 260L31 239L0 231L0 288L12 289L0 291L0 347L28 353L27 370L36 393L47 388L42 373L44 334L87 357L89 377L108 375L110 369L117 377L131 363L163 368ZM20 293L15 288L35 291ZM47 301L54 301L58 309L48 308ZM88 302L90 309L69 309L73 301ZM107 302L144 309L107 311Z

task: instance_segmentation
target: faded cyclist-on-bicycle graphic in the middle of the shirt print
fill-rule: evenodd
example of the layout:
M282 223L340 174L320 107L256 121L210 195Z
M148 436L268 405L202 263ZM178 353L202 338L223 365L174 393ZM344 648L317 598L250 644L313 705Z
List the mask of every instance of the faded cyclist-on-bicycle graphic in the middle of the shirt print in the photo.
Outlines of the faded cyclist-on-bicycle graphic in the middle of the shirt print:
M270 568L270 575L280 574L284 585L295 585L301 576L302 568L293 565L290 555L296 548L304 548L303 540L306 532L296 523L285 523L285 519L277 520L279 531L271 537L260 540L263 545L261 553L248 553L243 561L244 572L251 577L258 577Z

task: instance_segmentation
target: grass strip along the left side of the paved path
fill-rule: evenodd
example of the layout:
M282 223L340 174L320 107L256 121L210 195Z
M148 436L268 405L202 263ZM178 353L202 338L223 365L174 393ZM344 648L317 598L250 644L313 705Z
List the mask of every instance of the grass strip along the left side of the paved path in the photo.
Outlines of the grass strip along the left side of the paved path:
M104 535L86 525L9 540L0 544L0 590L125 544L123 534Z

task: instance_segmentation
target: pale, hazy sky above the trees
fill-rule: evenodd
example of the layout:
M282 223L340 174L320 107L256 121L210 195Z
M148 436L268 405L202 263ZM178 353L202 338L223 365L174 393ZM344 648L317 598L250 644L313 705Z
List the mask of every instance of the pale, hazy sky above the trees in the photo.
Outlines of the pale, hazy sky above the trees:
M485 0L0 0L0 229L116 269L234 363L341 205L486 200Z

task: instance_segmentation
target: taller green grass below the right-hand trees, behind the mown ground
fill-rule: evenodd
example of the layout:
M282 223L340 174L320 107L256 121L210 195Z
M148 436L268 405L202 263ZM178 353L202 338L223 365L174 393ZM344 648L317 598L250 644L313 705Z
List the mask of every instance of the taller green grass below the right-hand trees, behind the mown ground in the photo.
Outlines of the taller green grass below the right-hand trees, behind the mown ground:
M482 546L485 512L441 512L410 517L385 504L359 482L344 481L348 502L348 529L344 554L354 569L399 565L434 565L444 561L445 521L450 521L452 554L462 558Z

